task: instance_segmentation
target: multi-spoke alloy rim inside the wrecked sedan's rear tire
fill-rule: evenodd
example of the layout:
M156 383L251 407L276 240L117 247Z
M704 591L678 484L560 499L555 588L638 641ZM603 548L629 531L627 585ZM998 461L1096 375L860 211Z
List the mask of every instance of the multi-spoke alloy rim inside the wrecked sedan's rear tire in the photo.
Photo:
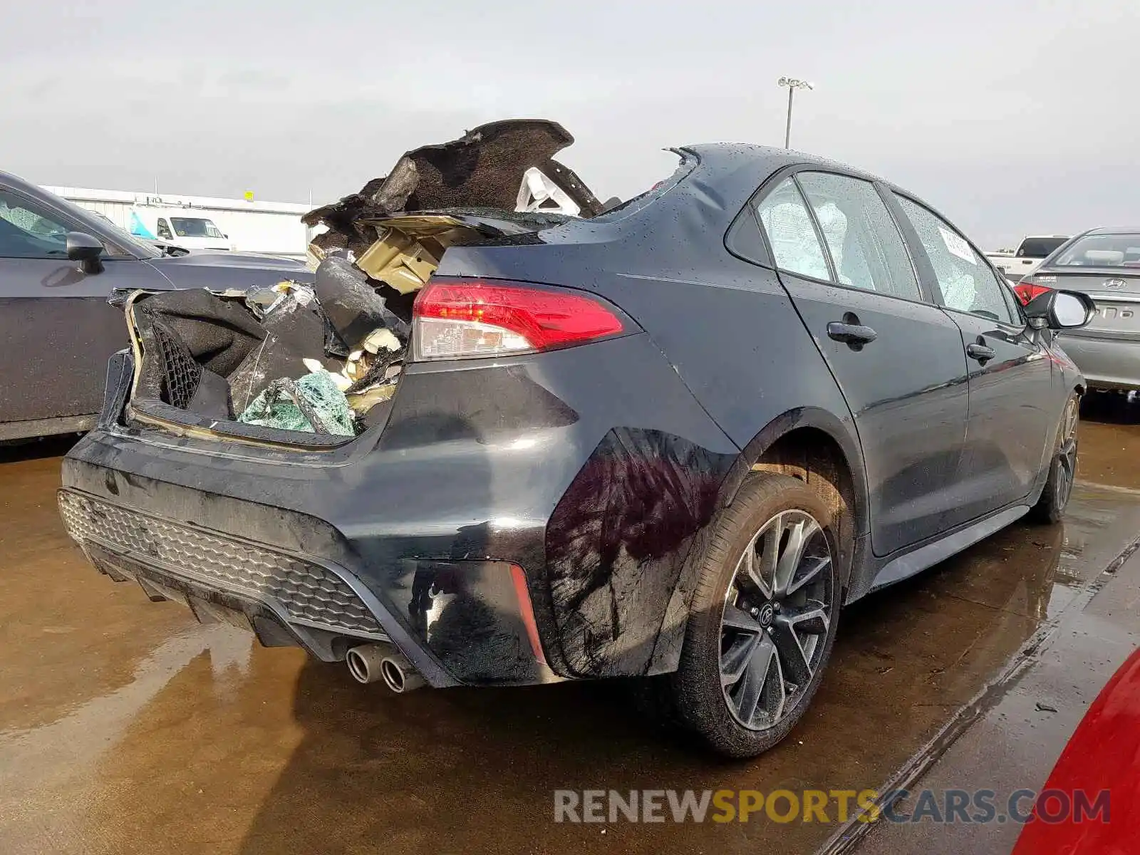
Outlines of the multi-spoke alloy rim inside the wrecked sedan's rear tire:
M744 727L788 716L820 667L834 608L833 556L805 511L781 511L736 562L720 618L720 685Z

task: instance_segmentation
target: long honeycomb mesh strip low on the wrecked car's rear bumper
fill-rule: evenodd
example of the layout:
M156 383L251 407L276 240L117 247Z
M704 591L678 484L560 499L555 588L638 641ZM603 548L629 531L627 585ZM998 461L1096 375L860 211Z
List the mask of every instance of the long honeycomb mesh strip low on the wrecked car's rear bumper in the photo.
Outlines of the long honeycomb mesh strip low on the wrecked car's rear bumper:
M332 630L383 632L348 583L319 564L67 491L59 510L75 540L127 551L142 564L157 560L219 591L270 596L291 617Z

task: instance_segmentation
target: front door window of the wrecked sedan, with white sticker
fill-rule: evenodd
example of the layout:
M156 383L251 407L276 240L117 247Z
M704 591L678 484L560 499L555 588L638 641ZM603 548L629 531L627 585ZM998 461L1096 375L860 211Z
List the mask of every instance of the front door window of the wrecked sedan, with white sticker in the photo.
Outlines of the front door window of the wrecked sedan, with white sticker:
M990 266L948 222L903 196L896 196L926 250L947 309L1016 324Z

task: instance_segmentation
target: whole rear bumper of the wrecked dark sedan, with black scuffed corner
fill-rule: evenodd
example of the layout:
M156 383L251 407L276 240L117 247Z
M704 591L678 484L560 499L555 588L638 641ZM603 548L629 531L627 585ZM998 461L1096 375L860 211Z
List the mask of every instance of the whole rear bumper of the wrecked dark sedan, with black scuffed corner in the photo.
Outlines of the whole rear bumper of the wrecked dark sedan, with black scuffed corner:
M433 686L675 667L670 601L738 451L646 336L413 366L331 450L139 430L130 380L120 353L59 496L113 578L323 660L388 638Z

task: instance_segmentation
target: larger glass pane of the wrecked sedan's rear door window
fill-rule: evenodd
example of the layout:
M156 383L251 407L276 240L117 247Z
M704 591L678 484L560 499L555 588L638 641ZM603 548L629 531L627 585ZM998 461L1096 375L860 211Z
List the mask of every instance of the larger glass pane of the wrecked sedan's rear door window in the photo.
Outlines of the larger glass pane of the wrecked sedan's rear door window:
M874 185L849 176L800 172L840 285L921 300L906 244Z

